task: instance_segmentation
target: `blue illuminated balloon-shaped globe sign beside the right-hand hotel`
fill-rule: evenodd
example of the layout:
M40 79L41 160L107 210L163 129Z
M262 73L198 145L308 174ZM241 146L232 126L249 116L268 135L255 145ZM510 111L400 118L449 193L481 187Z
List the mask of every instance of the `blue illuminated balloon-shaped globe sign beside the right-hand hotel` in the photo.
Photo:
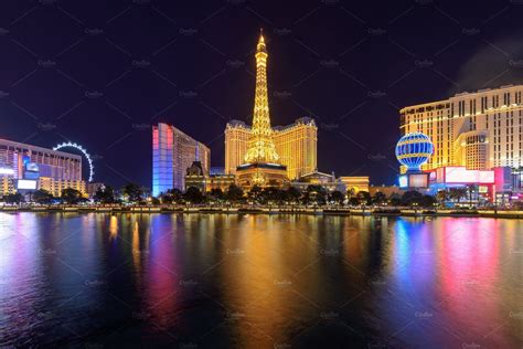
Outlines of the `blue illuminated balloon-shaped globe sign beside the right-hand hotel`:
M396 158L409 172L419 171L433 154L433 141L421 133L406 134L396 145Z

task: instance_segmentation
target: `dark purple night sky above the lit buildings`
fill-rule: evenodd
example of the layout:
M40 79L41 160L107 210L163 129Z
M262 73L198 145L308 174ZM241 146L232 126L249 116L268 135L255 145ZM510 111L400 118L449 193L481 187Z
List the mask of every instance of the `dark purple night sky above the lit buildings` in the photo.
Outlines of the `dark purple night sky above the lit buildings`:
M76 141L96 180L150 187L167 121L223 166L264 28L273 125L312 116L319 170L393 183L398 108L521 83L522 18L523 0L2 0L0 137Z

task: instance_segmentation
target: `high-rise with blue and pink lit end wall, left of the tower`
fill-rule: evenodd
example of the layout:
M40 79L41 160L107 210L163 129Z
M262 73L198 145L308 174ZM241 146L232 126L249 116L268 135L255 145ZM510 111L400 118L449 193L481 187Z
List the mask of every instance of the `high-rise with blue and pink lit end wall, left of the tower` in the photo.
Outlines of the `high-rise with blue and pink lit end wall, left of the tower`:
M211 166L211 149L172 125L152 127L152 195L169 189L185 188L185 171L201 161L204 171Z

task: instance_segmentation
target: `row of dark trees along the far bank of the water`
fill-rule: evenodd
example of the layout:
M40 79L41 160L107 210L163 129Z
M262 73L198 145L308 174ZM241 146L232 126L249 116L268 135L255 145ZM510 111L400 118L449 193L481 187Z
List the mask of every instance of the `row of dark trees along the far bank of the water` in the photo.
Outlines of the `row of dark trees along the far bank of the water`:
M258 203L258 204L350 204L350 205L391 205L391 207L412 207L431 208L435 204L445 204L448 201L460 202L461 199L471 195L468 188L451 188L446 191L439 191L436 197L419 193L417 191L407 191L403 194L385 195L383 192L376 192L371 195L367 191L354 192L349 190L341 192L339 190L328 191L319 184L310 184L305 190L295 187L287 189L253 187L249 191L244 191L238 186L232 184L226 190L220 188L212 189L209 192L202 192L195 187L190 187L185 192L178 189L168 190L158 198L151 198L152 204L202 204L202 203ZM66 203L78 204L88 201L76 189L67 188L62 191L60 198L53 197L49 191L36 190L28 195L20 193L7 194L1 201L7 203L21 203L28 198L30 202L40 204ZM136 183L128 183L116 191L110 186L100 187L93 195L96 203L147 203L147 189Z

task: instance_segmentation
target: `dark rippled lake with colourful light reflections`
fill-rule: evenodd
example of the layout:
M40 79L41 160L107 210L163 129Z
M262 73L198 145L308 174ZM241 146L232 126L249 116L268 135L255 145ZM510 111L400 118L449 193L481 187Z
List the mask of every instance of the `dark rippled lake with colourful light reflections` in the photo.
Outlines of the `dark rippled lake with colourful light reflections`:
M516 220L0 213L4 346L521 348L522 290Z

